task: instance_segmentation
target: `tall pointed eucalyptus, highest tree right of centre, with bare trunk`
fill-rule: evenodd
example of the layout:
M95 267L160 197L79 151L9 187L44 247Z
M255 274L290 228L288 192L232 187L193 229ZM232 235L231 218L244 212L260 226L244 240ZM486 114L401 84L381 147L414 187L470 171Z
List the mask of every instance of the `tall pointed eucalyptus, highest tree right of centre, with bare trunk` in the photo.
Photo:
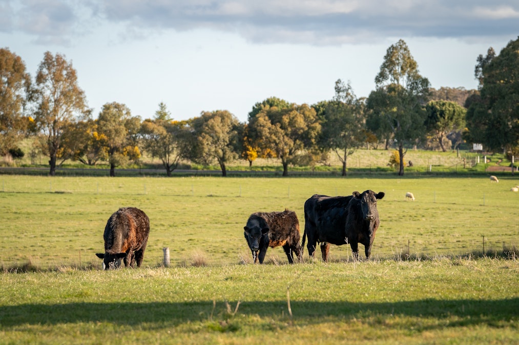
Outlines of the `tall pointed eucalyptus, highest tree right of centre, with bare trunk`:
M416 143L426 133L424 106L427 103L430 83L418 72L404 40L391 45L384 56L380 71L375 77L376 90L367 100L367 123L378 123L390 131L398 145L400 156L399 175L404 175L404 147ZM376 118L373 119L373 118Z

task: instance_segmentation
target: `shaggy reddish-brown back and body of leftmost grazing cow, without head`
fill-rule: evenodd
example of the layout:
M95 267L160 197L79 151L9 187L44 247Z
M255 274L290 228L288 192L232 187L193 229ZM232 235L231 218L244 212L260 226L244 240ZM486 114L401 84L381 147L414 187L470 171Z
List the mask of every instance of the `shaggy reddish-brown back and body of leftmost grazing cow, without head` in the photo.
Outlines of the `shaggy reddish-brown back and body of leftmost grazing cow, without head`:
M114 212L104 228L104 249L111 253L139 250L147 242L149 219L142 210L123 207Z

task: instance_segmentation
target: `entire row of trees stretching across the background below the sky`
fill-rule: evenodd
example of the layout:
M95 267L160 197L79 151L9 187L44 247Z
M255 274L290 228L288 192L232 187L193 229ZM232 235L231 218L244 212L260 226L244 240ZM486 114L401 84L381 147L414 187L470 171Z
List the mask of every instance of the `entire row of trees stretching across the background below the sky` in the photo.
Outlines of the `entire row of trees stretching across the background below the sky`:
M404 174L408 148L455 149L463 142L487 150L519 152L519 38L499 55L489 48L476 58L478 90L431 88L404 40L391 45L375 76L376 89L357 97L338 79L335 95L317 104L294 104L270 97L256 103L241 123L227 110L202 111L183 121L171 118L164 103L153 118L132 116L122 103L103 105L97 118L88 108L77 73L65 56L46 52L34 80L21 57L0 49L0 155L20 153L21 139L49 158L53 176L66 160L115 168L139 160L143 151L162 162L171 176L181 160L226 164L277 157L283 176L289 167L342 162L360 147L398 150Z

